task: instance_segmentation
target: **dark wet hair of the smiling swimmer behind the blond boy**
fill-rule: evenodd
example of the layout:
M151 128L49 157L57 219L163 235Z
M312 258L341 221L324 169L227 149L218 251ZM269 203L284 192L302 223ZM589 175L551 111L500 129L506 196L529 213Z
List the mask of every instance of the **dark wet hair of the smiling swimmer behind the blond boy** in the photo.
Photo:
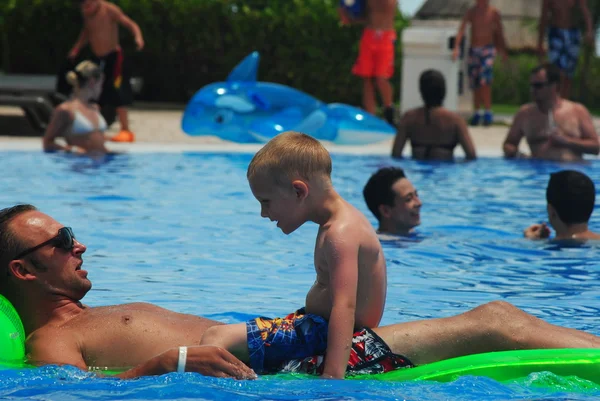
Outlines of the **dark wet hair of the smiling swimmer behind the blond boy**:
M396 194L392 191L392 186L399 179L406 178L404 170L398 167L384 167L379 169L369 178L363 189L363 196L367 207L381 221L379 213L380 205L394 206Z

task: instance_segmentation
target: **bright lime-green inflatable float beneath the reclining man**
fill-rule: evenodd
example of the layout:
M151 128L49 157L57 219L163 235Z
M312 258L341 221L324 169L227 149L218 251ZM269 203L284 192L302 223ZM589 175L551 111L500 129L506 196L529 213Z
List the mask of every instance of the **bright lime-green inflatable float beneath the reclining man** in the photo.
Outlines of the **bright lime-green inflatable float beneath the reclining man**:
M25 331L17 311L0 295L0 369L31 368L25 360ZM102 371L117 374L120 371ZM600 349L541 349L489 352L468 355L376 375L351 376L352 380L450 382L461 376L485 376L497 381L513 380L535 372L576 376L600 385ZM314 378L277 374L266 379Z

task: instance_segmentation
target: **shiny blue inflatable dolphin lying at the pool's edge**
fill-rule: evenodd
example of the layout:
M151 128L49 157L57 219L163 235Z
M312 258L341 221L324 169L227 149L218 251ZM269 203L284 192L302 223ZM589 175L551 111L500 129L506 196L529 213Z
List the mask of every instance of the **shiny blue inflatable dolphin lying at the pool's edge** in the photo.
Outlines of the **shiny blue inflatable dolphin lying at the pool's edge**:
M289 86L257 82L259 60L254 52L231 71L226 82L198 90L185 108L182 130L191 136L215 135L240 143L265 143L289 130L343 145L394 137L394 127L362 109L325 104Z

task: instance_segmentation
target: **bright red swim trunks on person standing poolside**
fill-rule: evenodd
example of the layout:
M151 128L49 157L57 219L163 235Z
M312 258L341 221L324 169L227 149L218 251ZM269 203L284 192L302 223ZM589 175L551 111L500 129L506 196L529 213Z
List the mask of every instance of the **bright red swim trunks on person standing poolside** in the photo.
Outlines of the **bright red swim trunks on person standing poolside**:
M394 75L396 31L365 28L352 74L363 78L391 78Z

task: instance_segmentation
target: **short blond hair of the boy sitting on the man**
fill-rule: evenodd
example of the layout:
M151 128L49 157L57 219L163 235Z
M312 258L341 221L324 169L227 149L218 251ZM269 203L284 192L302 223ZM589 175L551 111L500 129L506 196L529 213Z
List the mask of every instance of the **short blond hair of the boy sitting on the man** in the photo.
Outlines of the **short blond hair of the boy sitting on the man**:
M315 138L300 132L277 135L259 150L248 166L248 181L270 177L277 185L302 178L331 177L331 156Z

